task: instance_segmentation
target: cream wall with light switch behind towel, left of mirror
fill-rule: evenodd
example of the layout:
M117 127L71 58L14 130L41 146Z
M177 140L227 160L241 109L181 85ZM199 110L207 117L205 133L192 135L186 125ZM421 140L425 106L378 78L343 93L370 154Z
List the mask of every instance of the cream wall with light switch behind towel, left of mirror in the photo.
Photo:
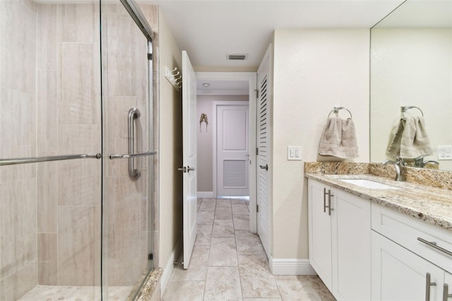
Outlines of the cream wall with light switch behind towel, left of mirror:
M275 30L273 68L271 252L275 259L307 259L303 163L333 159L319 157L317 148L334 106L353 114L355 162L369 161L369 29ZM288 161L287 146L302 146L303 160Z

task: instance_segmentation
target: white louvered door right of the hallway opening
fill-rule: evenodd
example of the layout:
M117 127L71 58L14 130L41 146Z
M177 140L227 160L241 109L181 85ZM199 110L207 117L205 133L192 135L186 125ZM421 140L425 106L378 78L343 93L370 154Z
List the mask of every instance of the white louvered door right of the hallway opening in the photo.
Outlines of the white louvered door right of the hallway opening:
M269 47L270 49L270 47ZM268 163L270 159L270 54L266 53L257 71L258 105L257 110L257 232L261 237L263 249L270 256L270 204Z

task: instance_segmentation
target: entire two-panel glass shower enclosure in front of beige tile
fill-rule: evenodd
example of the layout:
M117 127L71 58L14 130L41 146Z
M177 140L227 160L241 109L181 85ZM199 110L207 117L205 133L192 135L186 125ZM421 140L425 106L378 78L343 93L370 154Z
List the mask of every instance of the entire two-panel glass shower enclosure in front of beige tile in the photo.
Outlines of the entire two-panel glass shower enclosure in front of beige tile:
M119 0L0 0L0 53L0 301L133 297L152 156L109 155L153 151L148 40Z

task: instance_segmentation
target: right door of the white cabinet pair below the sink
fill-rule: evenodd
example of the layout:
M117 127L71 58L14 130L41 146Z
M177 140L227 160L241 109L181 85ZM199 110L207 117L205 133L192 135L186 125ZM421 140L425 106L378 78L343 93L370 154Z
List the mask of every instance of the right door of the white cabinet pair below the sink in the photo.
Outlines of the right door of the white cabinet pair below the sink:
M338 189L333 194L333 295L338 300L370 300L370 201Z

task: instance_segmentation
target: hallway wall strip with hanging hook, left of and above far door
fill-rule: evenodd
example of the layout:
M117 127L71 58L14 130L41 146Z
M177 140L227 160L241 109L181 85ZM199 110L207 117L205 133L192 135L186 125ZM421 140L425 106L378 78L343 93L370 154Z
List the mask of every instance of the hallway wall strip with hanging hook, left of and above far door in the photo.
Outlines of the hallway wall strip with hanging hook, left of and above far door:
M213 102L220 101L248 101L248 95L198 95L197 113L208 116L208 131L203 122L198 131L198 191L213 192Z

